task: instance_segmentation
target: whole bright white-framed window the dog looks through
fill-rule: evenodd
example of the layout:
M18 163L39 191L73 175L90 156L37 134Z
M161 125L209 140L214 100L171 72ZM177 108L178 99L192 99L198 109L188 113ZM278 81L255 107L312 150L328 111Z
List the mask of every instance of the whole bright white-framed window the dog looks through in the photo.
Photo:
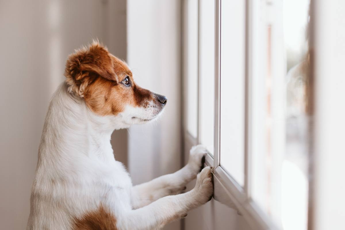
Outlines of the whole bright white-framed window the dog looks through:
M307 229L309 0L187 5L187 133L258 229Z

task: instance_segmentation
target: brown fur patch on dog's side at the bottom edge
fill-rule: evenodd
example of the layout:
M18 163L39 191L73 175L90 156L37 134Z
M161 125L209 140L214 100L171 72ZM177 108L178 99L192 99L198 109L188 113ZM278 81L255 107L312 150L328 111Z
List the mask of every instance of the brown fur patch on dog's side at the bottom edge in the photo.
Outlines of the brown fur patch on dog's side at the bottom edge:
M115 217L102 205L95 211L75 219L73 230L117 230Z

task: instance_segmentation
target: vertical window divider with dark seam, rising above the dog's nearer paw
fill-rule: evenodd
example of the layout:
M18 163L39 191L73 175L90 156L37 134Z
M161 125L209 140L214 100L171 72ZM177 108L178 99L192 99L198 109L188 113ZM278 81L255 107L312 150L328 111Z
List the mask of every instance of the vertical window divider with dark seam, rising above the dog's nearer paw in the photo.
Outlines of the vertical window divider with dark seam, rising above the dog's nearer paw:
M214 109L214 161L213 166L220 165L220 7L221 1L215 1L215 109Z

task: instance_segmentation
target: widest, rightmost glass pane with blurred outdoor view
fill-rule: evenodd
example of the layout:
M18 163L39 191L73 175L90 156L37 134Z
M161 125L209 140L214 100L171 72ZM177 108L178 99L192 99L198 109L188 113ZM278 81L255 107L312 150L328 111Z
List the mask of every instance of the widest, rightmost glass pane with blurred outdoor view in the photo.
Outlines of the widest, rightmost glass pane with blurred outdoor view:
M307 229L309 0L252 11L252 198L283 229Z

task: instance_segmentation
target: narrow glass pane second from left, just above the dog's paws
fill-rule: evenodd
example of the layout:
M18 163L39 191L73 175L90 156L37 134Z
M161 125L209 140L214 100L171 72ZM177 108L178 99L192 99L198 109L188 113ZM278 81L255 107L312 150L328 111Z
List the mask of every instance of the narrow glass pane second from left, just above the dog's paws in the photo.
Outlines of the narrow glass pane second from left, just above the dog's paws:
M200 0L200 141L213 154L214 2Z

